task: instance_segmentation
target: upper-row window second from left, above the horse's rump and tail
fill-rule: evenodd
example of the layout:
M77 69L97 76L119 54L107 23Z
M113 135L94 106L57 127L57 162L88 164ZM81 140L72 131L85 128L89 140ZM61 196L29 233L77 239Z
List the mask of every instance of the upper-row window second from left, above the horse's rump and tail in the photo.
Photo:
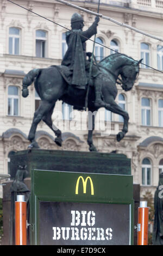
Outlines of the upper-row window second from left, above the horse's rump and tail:
M36 30L36 57L46 57L47 32Z

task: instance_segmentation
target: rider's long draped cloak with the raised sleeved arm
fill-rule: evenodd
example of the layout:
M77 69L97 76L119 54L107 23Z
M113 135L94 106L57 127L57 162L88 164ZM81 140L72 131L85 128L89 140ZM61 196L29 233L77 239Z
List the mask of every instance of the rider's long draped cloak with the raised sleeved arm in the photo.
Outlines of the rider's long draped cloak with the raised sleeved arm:
M85 89L87 77L85 66L86 60L86 43L85 41L97 33L97 23L93 22L86 31L73 29L66 32L66 42L68 45L62 65L68 66L72 71L72 84L77 88Z

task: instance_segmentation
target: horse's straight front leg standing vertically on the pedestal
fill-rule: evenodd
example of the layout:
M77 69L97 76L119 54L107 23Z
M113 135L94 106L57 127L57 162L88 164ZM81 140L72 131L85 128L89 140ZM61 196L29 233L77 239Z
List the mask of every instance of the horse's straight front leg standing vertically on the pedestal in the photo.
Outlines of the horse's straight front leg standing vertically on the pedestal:
M88 113L88 136L87 136L87 144L89 145L89 150L96 152L97 149L95 145L93 145L93 130L95 130L95 112L89 111Z

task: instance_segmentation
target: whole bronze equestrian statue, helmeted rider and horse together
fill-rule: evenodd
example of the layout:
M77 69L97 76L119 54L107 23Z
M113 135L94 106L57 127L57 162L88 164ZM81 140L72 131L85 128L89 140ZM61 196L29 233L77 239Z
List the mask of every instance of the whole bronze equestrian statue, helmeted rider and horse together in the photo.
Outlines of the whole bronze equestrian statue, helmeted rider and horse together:
M61 100L74 109L83 110L87 92L90 54L86 53L85 41L97 33L99 18L91 27L83 32L83 18L79 14L73 14L71 19L72 30L66 32L67 52L60 66L49 66L45 69L33 69L23 78L22 96L28 96L28 86L34 82L35 90L39 94L41 104L34 113L32 126L28 139L30 148L38 147L35 141L37 125L43 120L55 133L55 143L62 144L61 131L52 123L52 113L55 103ZM89 56L89 59L86 59ZM90 112L96 112L104 107L109 111L122 115L124 119L123 129L117 134L117 141L128 132L129 115L115 102L117 96L116 83L122 85L126 92L134 86L139 75L140 61L128 57L126 54L115 53L101 60L93 62L87 108ZM119 77L121 76L121 78ZM95 118L92 115L92 129L88 132L87 143L90 151L97 151L93 145L92 132L95 129Z

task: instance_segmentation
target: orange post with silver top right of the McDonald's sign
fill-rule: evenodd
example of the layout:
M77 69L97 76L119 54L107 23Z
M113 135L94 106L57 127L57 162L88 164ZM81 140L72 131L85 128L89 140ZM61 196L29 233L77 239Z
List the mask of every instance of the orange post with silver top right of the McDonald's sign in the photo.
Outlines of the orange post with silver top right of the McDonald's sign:
M137 245L148 245L148 211L147 202L141 201L138 208Z

